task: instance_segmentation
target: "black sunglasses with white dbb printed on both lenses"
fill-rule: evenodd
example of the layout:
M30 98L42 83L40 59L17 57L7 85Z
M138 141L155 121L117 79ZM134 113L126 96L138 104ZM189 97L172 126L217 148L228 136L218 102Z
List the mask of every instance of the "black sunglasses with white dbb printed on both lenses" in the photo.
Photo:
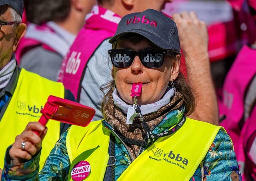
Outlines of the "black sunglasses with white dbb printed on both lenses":
M173 57L170 50L141 50L133 51L126 49L112 49L108 50L111 62L114 67L126 68L130 66L135 58L138 56L143 66L147 68L159 68L164 63L164 56L166 54Z

